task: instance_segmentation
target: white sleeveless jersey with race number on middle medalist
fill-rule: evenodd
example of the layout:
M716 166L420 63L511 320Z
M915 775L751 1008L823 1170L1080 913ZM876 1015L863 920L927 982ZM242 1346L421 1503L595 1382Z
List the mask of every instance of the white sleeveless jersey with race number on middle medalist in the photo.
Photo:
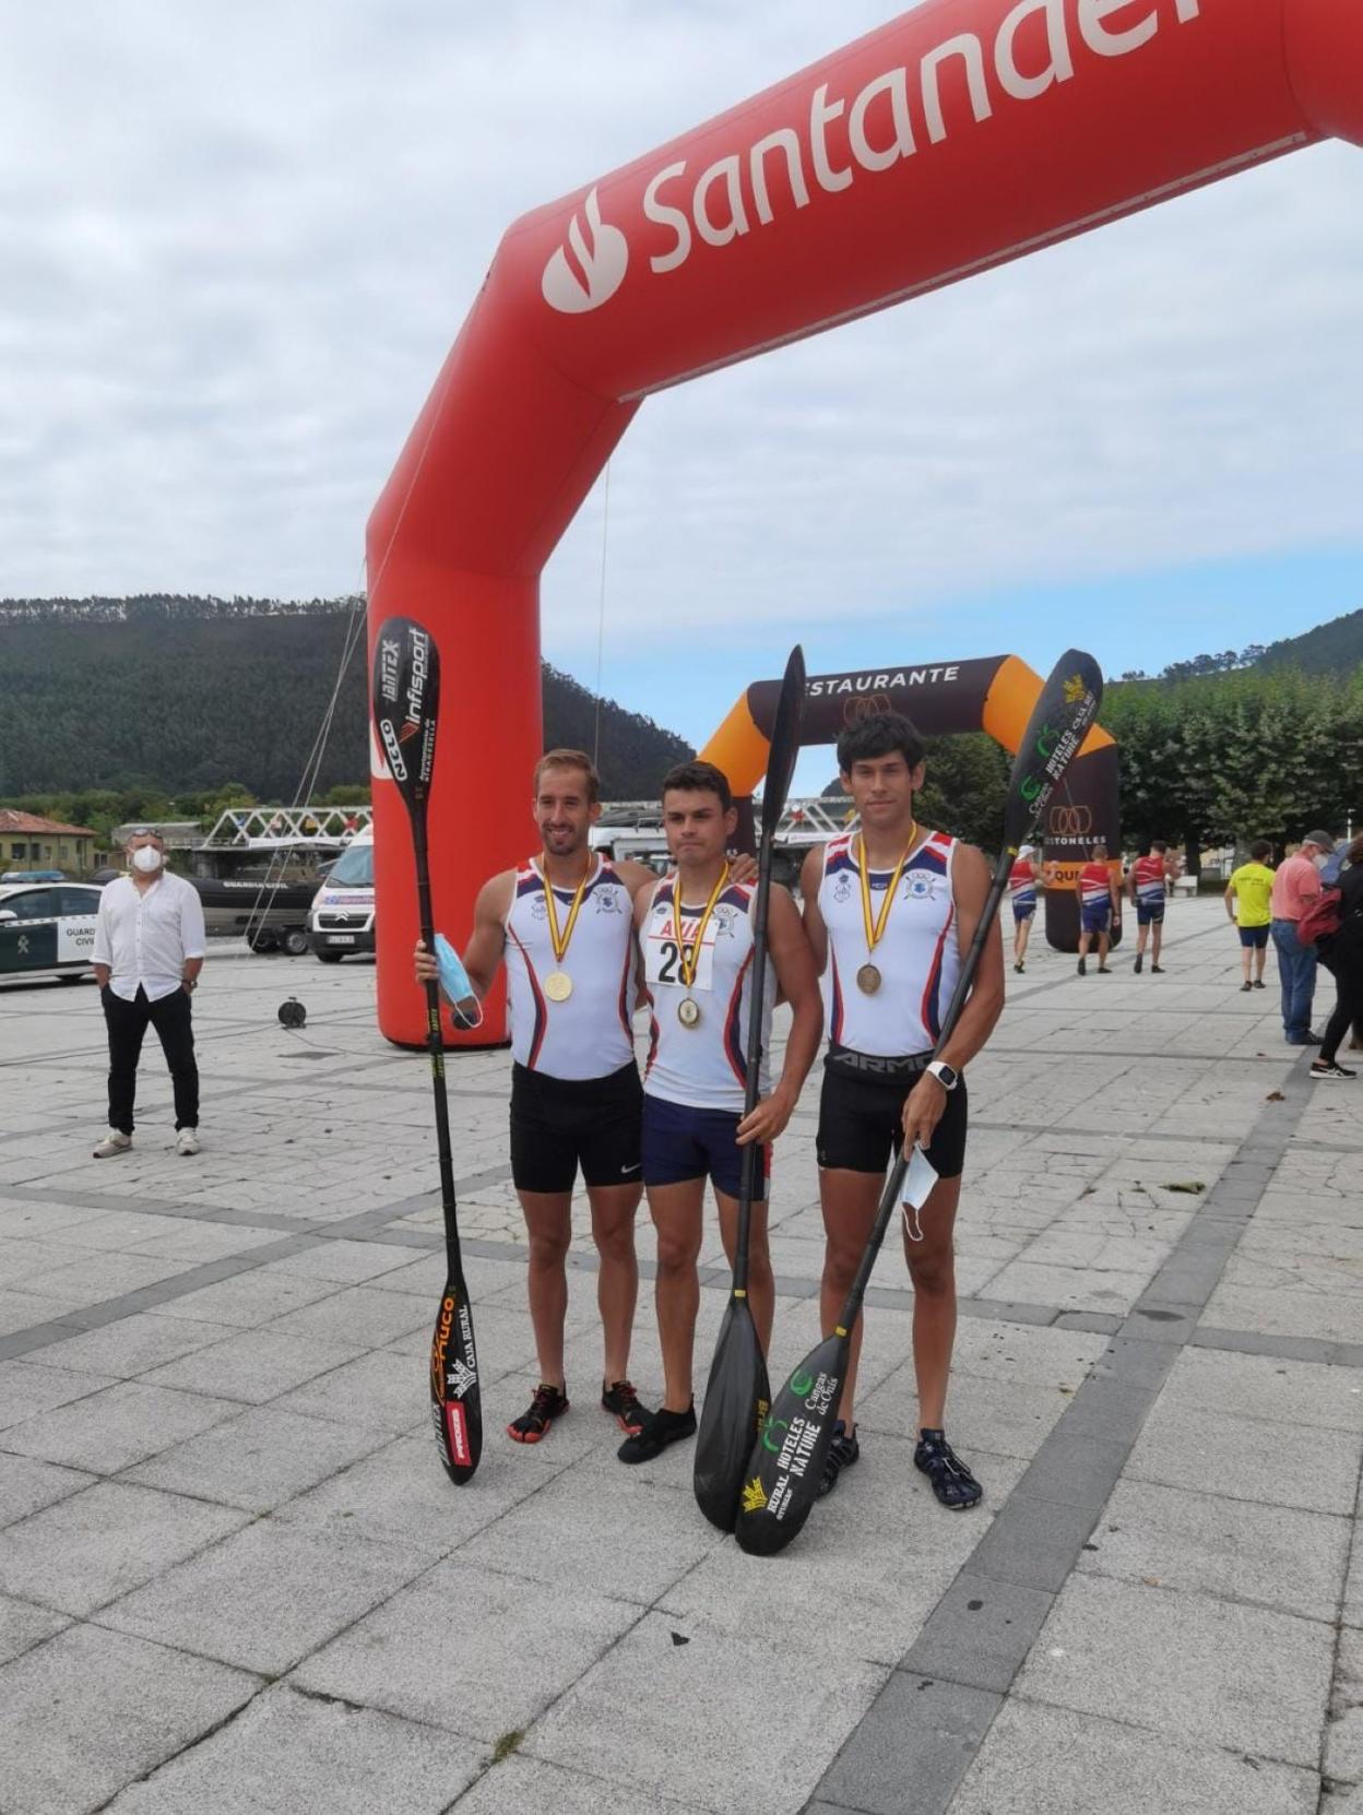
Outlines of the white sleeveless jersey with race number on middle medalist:
M753 978L755 886L731 882L715 902L695 964L690 989L681 980L677 929L673 922L675 873L653 888L653 902L641 929L644 980L653 996L653 1020L644 1067L644 1093L691 1109L728 1109L742 1113L748 1082L748 1004ZM704 915L704 902L682 906L682 938L688 949ZM768 958L762 998L762 1071L759 1093L771 1089L768 1051L771 1045L771 1004L775 967ZM701 1022L684 1027L677 1007L686 996L701 1006Z

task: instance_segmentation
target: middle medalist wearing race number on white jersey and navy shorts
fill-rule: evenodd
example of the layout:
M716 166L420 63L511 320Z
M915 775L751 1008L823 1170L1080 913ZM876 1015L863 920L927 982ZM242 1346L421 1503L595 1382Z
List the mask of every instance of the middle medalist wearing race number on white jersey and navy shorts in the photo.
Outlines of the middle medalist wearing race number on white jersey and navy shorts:
M730 784L710 762L684 762L662 782L662 826L675 871L635 902L652 1000L644 1071L644 1185L657 1227L657 1325L662 1345L661 1410L621 1445L624 1463L650 1461L695 1436L691 1359L701 1307L697 1260L706 1178L715 1187L719 1229L733 1263L742 1147L760 1145L751 1212L748 1301L762 1349L771 1341L775 1287L766 1245L770 1142L789 1122L813 1056L822 1015L813 955L795 902L773 888L762 1051L779 984L791 1027L775 1089L760 1074L760 1100L744 1118L748 1015L753 971L753 886L735 882L726 857L737 815Z

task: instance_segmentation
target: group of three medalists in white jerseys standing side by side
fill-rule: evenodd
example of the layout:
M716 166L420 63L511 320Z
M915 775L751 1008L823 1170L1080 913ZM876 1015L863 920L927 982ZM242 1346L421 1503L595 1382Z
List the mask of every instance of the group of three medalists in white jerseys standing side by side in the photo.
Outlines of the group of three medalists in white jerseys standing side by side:
M733 1261L742 1149L757 1143L748 1290L770 1347L775 1283L766 1192L771 1143L795 1111L824 1033L819 1191L826 1232L820 1312L831 1334L875 1220L886 1169L902 1142L938 1174L906 1260L913 1280L918 1379L915 1465L936 1499L960 1510L984 1488L944 1430L956 1327L953 1227L966 1156L964 1069L1004 1006L1002 938L978 967L940 1058L940 1018L989 891L989 868L947 831L918 826L924 744L907 719L884 715L838 741L842 786L858 829L813 849L802 908L771 888L766 1004L791 1007L780 1073L762 1074L744 1114L753 967L755 866L730 846L737 811L721 770L684 762L662 780L672 869L612 860L590 842L601 817L590 759L552 750L534 775L541 848L481 889L463 964L485 996L506 966L512 1024L512 1180L526 1220L530 1318L539 1385L506 1434L543 1441L568 1412L564 1378L570 1205L581 1169L599 1251L604 1336L601 1405L624 1430L619 1457L650 1461L695 1434L693 1341L701 1290L706 1180ZM437 966L416 949L421 982ZM650 1006L642 1082L633 1055L637 996ZM770 1035L770 1007L768 1029ZM764 1051L770 1040L764 1036ZM639 1287L633 1225L641 1194L657 1232L655 1309L664 1390L641 1405L628 1376ZM857 1356L820 1490L857 1463Z

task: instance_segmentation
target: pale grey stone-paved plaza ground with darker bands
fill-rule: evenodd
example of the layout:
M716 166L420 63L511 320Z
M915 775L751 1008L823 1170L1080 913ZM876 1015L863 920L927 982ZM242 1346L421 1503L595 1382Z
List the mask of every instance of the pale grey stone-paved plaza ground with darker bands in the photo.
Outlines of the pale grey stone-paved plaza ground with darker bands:
M212 955L198 1158L149 1047L132 1151L91 1160L94 991L4 987L0 1811L1363 1810L1363 1078L1310 1084L1220 900L1167 935L1158 978L1033 946L971 1067L949 1428L984 1505L913 1470L887 1251L862 1463L768 1561L701 1519L688 1454L615 1463L584 1216L574 1410L501 1437L535 1378L506 1053L448 1067L486 1416L456 1490L428 1071L372 966ZM773 1372L819 1334L815 1125L817 1080L777 1151ZM648 1401L646 1214L639 1252ZM713 1216L702 1267L701 1378Z

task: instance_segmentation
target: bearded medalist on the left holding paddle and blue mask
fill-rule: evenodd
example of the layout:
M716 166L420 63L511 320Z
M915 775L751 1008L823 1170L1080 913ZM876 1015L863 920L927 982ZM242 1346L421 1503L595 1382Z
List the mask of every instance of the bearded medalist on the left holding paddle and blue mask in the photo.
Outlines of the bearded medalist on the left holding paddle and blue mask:
M588 840L599 782L581 750L550 750L535 768L543 851L485 882L465 969L483 998L506 960L512 1007L512 1180L530 1236L530 1320L539 1387L506 1432L537 1443L568 1410L563 1321L572 1192L581 1165L601 1256L597 1301L606 1339L603 1407L624 1432L644 1423L628 1379L639 1292L633 1220L642 1194L641 1089L633 1058L633 895L657 877L612 864ZM436 976L417 944L417 980Z

